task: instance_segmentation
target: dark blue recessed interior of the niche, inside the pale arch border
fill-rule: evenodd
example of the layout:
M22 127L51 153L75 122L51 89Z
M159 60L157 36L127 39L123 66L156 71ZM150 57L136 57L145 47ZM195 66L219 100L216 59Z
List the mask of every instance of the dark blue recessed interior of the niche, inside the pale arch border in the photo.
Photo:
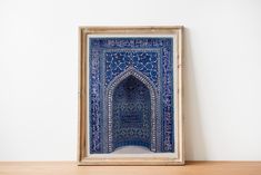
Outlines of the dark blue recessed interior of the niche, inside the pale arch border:
M129 76L116 87L112 101L113 149L129 145L151 149L149 88L134 76ZM131 153L138 148L133 148Z

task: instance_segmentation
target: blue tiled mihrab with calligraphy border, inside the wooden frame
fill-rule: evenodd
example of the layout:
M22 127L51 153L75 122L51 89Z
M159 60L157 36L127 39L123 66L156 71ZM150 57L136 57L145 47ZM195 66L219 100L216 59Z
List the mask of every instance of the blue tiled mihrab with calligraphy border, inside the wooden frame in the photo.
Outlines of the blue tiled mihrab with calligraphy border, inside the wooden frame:
M171 37L89 38L89 152L174 150Z

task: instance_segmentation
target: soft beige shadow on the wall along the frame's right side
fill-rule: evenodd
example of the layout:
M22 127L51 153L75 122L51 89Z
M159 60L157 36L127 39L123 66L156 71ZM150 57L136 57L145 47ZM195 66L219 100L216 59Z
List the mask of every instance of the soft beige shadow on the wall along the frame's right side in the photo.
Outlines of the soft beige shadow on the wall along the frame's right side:
M195 77L197 59L191 47L191 30L184 29L183 36L183 116L184 144L187 161L204 161L207 158L205 140L202 130L202 118Z

